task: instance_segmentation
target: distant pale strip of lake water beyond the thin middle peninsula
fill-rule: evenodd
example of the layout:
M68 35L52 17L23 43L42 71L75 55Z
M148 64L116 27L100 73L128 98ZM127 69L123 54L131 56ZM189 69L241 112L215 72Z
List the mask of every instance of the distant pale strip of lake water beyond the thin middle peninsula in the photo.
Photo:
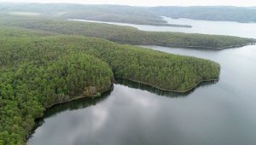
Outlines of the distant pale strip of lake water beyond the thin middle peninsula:
M173 26L145 26L126 23L104 22L95 20L77 20L97 23L107 23L119 26L133 26L143 31L154 32L186 32L186 33L202 33L212 35L230 35L241 38L256 38L256 23L238 23L231 21L208 21L208 20L189 20L189 19L171 19L163 17L169 24L189 25L188 27Z

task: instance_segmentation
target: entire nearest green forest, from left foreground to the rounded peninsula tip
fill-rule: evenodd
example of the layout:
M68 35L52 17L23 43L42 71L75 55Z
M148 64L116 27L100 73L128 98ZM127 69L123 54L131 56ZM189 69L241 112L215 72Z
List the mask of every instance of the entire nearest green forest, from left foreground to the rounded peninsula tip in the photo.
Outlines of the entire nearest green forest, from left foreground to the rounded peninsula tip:
M218 63L100 38L1 26L0 144L25 144L45 108L101 96L113 78L187 91L218 79Z

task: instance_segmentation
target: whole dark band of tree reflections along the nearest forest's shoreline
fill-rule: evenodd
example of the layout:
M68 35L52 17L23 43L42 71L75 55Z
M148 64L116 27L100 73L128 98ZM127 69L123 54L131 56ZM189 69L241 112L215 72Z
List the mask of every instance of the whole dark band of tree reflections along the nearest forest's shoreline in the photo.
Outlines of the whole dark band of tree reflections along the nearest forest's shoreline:
M203 82L200 85L198 85L197 87L195 87L195 89L198 87L205 87L205 86L208 86L211 84L216 84L216 83L217 83L217 81ZM188 96L190 93L192 93L195 90L195 89L193 89L186 93L175 93L175 92L170 92L170 91L165 91L165 90L159 90L159 89L156 89L156 88L151 87L146 84L140 84L140 83L132 82L130 80L125 80L125 79L121 79L121 78L116 78L115 84L122 84L122 85L125 85L132 89L147 90L150 93L154 93L159 96L167 96L167 97L184 97L184 96ZM81 98L79 100L74 100L72 102L65 102L65 103L61 103L61 104L55 105L53 107L50 107L49 109L47 109L45 111L44 118L36 119L36 125L34 127L34 130L29 134L28 138L32 137L32 134L34 133L34 131L39 126L44 124L44 119L50 118L50 117L56 115L57 113L61 113L66 110L78 110L78 109L82 109L85 107L90 107L90 106L96 105L97 103L105 100L110 95L112 90L113 90L113 87L111 88L111 90L108 90L107 92L103 93L102 96L96 97L94 99L85 97L85 98Z

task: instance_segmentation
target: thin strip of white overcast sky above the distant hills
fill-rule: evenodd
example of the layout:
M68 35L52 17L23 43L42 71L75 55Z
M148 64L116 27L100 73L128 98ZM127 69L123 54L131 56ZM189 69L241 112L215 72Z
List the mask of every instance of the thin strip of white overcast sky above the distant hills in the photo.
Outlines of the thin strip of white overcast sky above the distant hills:
M256 0L0 0L0 2L123 4L136 6L230 5L256 6Z

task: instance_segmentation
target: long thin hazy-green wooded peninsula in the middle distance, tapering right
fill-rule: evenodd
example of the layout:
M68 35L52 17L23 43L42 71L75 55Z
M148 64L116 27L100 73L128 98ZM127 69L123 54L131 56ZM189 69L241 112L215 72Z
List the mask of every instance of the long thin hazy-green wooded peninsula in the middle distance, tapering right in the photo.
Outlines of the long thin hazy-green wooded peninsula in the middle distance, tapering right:
M121 44L156 44L173 47L224 49L255 43L254 39L181 32L144 32L130 26L114 26L49 17L1 16L0 24L28 29L106 38Z

